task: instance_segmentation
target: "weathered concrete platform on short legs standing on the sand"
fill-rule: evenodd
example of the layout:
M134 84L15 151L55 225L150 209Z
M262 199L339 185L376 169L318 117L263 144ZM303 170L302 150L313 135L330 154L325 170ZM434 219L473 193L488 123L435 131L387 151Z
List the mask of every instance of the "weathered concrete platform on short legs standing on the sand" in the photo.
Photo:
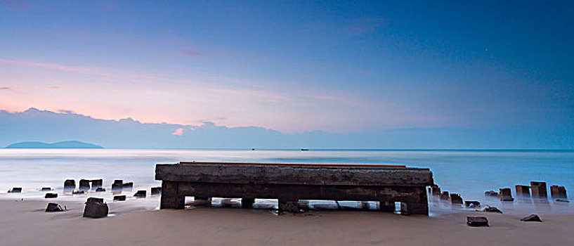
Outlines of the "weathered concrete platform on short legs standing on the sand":
M157 164L162 181L161 209L183 209L185 196L278 199L279 209L296 212L298 200L378 201L383 211L404 202L409 214L429 214L429 169L387 164L289 164L257 162L179 162Z

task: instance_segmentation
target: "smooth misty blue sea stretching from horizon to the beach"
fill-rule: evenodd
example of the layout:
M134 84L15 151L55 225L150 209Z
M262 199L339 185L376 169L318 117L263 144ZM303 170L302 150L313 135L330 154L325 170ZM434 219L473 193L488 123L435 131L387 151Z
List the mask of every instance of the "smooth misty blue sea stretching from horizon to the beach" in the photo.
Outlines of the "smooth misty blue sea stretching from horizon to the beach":
M135 189L159 186L159 162L261 161L315 163L388 163L429 167L443 190L464 199L483 199L485 190L528 184L532 180L566 186L574 198L574 151L393 151L393 150L62 150L0 149L0 190L22 187L39 194L43 186L63 188L65 179L133 181ZM24 194L22 194L24 195ZM1 198L1 196L0 196Z

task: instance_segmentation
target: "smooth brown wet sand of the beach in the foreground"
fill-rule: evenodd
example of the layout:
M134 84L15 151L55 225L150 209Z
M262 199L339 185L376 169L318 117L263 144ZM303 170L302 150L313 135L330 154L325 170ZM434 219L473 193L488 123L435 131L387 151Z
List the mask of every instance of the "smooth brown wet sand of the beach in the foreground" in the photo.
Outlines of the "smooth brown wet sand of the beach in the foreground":
M450 212L401 216L370 211L274 215L266 209L197 207L156 210L137 201L109 202L112 216L81 217L79 201L58 201L67 212L46 213L46 200L0 200L1 245L571 245L574 214ZM130 201L128 201L130 202ZM466 216L487 216L471 228ZM526 216L528 214L524 214Z

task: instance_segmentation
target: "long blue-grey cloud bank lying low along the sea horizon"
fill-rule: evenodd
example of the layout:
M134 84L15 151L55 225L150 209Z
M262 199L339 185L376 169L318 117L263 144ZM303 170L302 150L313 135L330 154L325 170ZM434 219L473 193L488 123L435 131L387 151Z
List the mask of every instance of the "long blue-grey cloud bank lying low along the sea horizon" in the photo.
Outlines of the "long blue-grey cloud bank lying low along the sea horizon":
M181 136L174 135L183 128ZM105 148L574 148L574 130L532 127L396 129L380 133L284 134L261 127L143 124L133 119L93 119L72 112L30 108L0 111L0 146L20 141L77 140Z

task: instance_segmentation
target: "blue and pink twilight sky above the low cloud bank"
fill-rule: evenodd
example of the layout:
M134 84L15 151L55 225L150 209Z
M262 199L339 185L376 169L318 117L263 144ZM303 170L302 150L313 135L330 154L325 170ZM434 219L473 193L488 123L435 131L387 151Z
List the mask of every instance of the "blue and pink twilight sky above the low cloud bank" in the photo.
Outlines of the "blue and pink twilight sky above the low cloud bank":
M572 1L0 0L0 110L570 132L572 16Z

